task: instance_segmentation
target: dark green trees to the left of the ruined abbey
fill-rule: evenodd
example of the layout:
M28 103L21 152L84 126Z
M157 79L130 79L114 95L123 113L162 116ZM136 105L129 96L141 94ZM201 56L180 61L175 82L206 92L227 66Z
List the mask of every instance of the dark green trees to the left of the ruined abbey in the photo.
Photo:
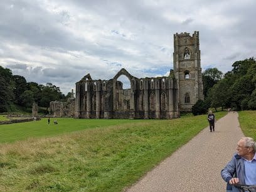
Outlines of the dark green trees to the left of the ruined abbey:
M60 88L52 83L40 85L35 82L27 82L23 76L13 75L9 68L0 66L0 112L11 112L15 106L21 106L25 110L31 108L33 102L39 107L46 107L46 111L52 100L67 100Z

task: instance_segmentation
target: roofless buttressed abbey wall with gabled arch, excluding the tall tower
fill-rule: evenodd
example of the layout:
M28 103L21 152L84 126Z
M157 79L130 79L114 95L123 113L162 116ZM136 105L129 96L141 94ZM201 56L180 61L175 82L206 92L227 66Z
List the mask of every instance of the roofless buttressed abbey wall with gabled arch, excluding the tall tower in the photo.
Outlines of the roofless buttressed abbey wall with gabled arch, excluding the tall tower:
M131 89L117 78L125 75ZM76 83L77 118L173 119L179 117L178 90L172 77L136 78L124 68L110 80L92 80L90 74Z

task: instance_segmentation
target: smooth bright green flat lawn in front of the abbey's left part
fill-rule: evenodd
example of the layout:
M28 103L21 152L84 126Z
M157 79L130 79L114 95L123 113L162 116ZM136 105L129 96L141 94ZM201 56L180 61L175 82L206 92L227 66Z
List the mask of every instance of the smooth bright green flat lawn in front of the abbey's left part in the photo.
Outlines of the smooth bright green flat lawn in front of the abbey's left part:
M104 127L109 125L120 125L142 120L129 119L73 119L57 118L58 124L53 124L55 119L43 118L41 120L23 122L19 124L0 125L0 143L13 142L28 139L29 137L56 136L59 134L80 131L83 129Z

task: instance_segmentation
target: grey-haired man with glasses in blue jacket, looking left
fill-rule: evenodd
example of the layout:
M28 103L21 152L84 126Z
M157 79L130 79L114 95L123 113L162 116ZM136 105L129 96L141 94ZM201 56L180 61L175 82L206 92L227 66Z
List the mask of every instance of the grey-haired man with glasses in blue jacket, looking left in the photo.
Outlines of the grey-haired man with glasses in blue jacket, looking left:
M227 191L239 191L236 184L256 184L256 144L251 137L242 137L237 142L237 153L221 170L227 182Z

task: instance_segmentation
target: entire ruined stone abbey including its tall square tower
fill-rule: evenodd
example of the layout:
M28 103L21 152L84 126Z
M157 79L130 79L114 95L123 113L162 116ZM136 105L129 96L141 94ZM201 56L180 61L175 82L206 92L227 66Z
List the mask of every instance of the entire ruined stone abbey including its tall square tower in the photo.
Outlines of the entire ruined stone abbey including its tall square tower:
M70 114L97 119L177 118L180 112L191 111L198 99L203 100L198 31L192 36L174 35L173 65L168 77L137 78L124 68L110 80L93 80L87 74L76 83L75 111ZM123 88L118 80L121 75L129 79L131 88ZM59 116L58 105L51 105L53 114Z

